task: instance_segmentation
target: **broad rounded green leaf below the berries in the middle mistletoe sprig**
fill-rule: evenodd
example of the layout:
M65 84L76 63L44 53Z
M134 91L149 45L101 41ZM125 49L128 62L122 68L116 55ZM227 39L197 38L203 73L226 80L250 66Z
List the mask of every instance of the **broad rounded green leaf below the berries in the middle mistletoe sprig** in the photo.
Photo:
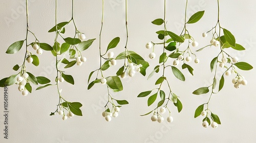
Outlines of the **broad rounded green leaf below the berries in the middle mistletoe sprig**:
M121 80L120 80L120 78L118 76L113 76L113 77L107 78L106 79L106 84L108 84L108 86L114 92L118 92L118 91L122 91L123 90L122 82L121 82Z

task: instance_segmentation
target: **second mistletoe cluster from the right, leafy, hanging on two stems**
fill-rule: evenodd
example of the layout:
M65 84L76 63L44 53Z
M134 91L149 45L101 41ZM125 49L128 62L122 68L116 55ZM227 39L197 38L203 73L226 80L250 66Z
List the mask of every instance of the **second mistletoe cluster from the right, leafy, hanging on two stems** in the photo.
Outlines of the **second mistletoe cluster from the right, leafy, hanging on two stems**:
M156 57L156 54L154 53L155 45L158 45L158 44L163 45L163 52L162 52L162 55L159 57L160 65L157 65L154 68L154 70L152 71L150 76L148 76L148 79L151 78L154 75L154 73L158 73L160 71L161 67L163 68L163 75L156 81L155 85L160 84L159 88L153 89L153 90L157 90L157 92L154 93L151 97L148 98L147 105L148 106L152 105L156 101L156 99L158 97L158 94L159 94L161 100L158 102L158 105L155 109L153 109L152 111L144 114L144 115L148 115L148 114L150 114L154 111L153 116L151 117L151 120L153 122L158 121L159 123L163 122L164 118L161 114L165 113L166 109L169 111L169 116L167 117L167 122L173 122L173 117L171 116L170 109L168 108L168 103L169 102L174 103L174 105L178 108L178 112L180 112L182 110L182 103L179 100L178 96L170 88L169 81L165 77L165 70L166 70L166 67L171 67L174 76L176 78L178 78L179 80L181 80L181 81L185 81L184 75L176 67L179 64L179 61L183 61L182 69L187 68L188 71L190 72L190 74L193 75L193 70L194 69L191 66L189 66L186 62L191 61L190 55L194 55L196 57L196 55L193 52L191 52L191 50L190 50L190 47L189 47L190 42L193 41L193 42L191 42L192 46L198 46L198 42L196 42L194 40L194 38L189 35L189 32L186 29L186 24L196 23L197 21L199 21L202 18L203 14L204 14L204 11L199 11L199 12L195 13L194 15L192 15L189 18L188 21L186 21L186 11L187 11L187 1L186 1L184 29L182 30L180 36L178 36L177 34L175 34L173 32L167 31L167 29L166 29L167 21L166 21L166 18L165 18L165 15L166 15L165 11L166 11L166 1L164 1L164 18L163 19L158 18L158 19L155 19L154 21L152 21L152 23L154 25L161 26L162 24L164 24L164 30L156 32L158 34L158 38L160 40L163 40L163 42L161 42L161 43L148 42L146 44L147 49L151 49L151 47L153 46L153 52L149 55L149 57L151 59L154 59ZM168 36L170 37L169 39L167 39ZM187 45L187 48L184 51L181 51L180 47L181 47L181 44L184 43L185 39L188 39L188 45ZM167 43L168 43L168 45L167 45ZM177 44L178 44L178 47L176 46ZM167 52L173 52L173 53L168 53L167 54ZM185 54L188 55L188 56L184 59ZM173 65L169 65L167 63L168 58L174 58L175 59L173 61ZM199 60L196 58L195 62L199 63ZM169 88L167 98L165 97L165 92L163 90L161 90L161 87L162 87L162 85L164 85L164 82L166 82L166 84ZM141 92L138 95L138 97L139 98L147 97L148 95L151 94L151 92L153 90ZM166 104L164 104L164 103L166 103ZM142 116L144 116L144 115L142 115Z

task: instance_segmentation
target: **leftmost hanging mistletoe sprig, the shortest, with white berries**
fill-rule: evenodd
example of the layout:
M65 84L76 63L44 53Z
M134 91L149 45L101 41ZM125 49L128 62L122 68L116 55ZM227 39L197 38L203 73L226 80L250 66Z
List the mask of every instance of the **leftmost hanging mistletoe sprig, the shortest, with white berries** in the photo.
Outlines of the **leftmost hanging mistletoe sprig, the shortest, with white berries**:
M8 47L6 51L7 54L15 54L20 49L22 49L25 42L26 53L24 56L24 61L22 65L16 64L13 67L13 70L17 71L20 69L20 71L17 74L14 74L8 78L4 78L0 80L0 87L18 84L18 90L22 92L23 96L27 96L29 92L30 93L32 92L31 83L38 85L38 84L47 84L51 82L46 77L35 77L32 73L29 73L28 70L26 69L26 61L28 63L32 63L35 66L39 65L39 58L35 54L33 54L32 48L36 51L37 55L41 55L42 50L49 51L49 49L51 49L51 46L49 44L40 43L39 40L36 38L35 34L29 30L28 0L26 0L26 19L27 19L26 20L27 21L26 39L14 42ZM30 44L28 42L29 33L32 34L35 38L34 42Z

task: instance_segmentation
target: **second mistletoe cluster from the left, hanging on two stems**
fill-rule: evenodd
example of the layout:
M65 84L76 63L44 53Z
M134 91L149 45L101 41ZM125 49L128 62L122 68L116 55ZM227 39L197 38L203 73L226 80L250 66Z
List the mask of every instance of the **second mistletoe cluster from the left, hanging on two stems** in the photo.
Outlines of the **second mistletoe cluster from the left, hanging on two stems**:
M55 78L55 82L57 86L57 92L59 95L59 100L57 104L57 108L54 112L51 112L50 115L54 115L56 112L58 114L62 115L62 120L67 120L68 117L73 117L74 115L82 116L82 111L80 110L80 107L82 106L81 103L79 102L69 102L65 100L61 96L61 91L62 89L59 88L59 83L62 83L64 81L74 85L74 78L71 75L64 74L65 71L60 70L59 66L60 64L66 64L64 68L70 68L73 65L77 64L79 66L82 65L83 62L86 62L87 58L82 56L82 51L87 50L90 45L93 43L95 39L89 39L87 41L82 41L86 39L86 36L84 33L81 33L80 31L77 30L75 20L73 17L73 12L74 12L74 0L72 0L72 17L69 21L66 22L60 22L57 24L57 0L55 4L55 26L50 29L48 32L55 32L56 36L54 39L54 45L52 46L52 54L53 56L56 57L56 71L57 71L57 76ZM74 37L67 37L64 38L61 34L65 33L65 26L67 26L70 22L73 22L73 26L75 28L75 35ZM60 45L60 43L57 41L58 36L60 36L65 42ZM69 58L72 61L69 61L65 58L66 53L69 54ZM61 57L59 59L59 57ZM51 86L53 84L47 84L45 86L38 87L38 89L42 89L48 86ZM65 110L67 113L65 113Z

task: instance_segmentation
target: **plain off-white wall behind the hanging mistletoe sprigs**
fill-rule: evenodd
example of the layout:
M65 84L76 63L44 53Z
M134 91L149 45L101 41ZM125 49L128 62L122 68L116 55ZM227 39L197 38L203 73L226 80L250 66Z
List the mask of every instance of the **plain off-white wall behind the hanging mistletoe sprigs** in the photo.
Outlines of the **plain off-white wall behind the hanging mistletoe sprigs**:
M0 2L0 43L1 43L1 76L8 77L16 74L12 67L23 62L25 47L15 55L5 54L8 46L14 41L25 39L26 15L25 1L1 1ZM230 55L237 56L241 61L249 62L256 67L256 10L255 1L221 1L221 25L228 29L236 37L237 43L246 47L246 51L238 52L228 50ZM105 18L102 32L103 46L116 36L121 38L116 55L123 51L125 44L125 13L124 0L106 0ZM150 63L147 73L150 73L158 63L158 58L151 60L148 54L151 50L145 49L148 41L159 41L156 31L162 26L154 26L151 21L163 17L163 1L140 0L129 1L129 50L136 51ZM205 10L203 18L194 25L187 26L191 35L199 42L199 47L207 45L210 36L202 38L201 34L215 26L217 22L217 1L198 0L189 1L188 16ZM47 31L54 26L55 1L31 0L29 5L29 25L41 42L53 43L54 33ZM167 29L175 33L182 30L184 19L185 0L167 1ZM68 21L71 18L71 1L59 1L58 22ZM146 98L137 98L137 95L145 90L156 88L154 85L160 75L155 75L146 80L137 74L133 78L123 80L124 90L114 94L117 99L126 99L129 105L123 106L117 118L106 122L101 116L106 103L105 86L95 85L87 90L87 80L90 72L99 66L98 42L101 20L101 1L75 1L74 18L78 30L86 33L87 38L97 38L92 46L83 55L88 61L81 67L74 66L66 72L73 75L75 86L61 84L62 96L69 101L79 101L83 116L75 116L62 121L61 116L49 116L56 109L58 94L55 86L41 89L23 97L17 90L17 86L9 87L9 139L4 139L3 127L3 102L4 91L0 90L0 142L254 142L255 132L255 69L240 71L248 81L247 86L240 89L233 88L231 79L225 77L225 85L220 93L212 97L210 109L219 115L222 125L217 129L203 128L203 117L194 118L195 109L208 100L209 94L195 96L191 92L195 89L209 85L212 73L209 63L218 54L215 47L210 47L197 53L200 64L191 63L194 67L194 76L186 70L182 70L186 77L185 82L176 79L171 71L168 78L172 79L172 89L180 96L183 103L181 113L175 106L170 106L173 123L166 120L159 124L153 123L151 115L139 116L153 107L147 107ZM7 22L6 19L11 19ZM73 27L69 26L66 35L73 35ZM33 37L29 37L33 39ZM32 40L31 40L32 42ZM159 56L161 51L157 51ZM115 55L115 56L116 56ZM55 78L54 57L50 52L44 51L39 56L40 65L35 67L27 64L27 71L36 76ZM171 60L170 60L171 61ZM170 62L169 61L169 62ZM120 64L120 63L119 63ZM181 65L178 66L181 69ZM114 75L118 66L111 67L106 75ZM219 75L220 78L220 75ZM52 82L53 83L53 82ZM33 86L35 89L36 86ZM2 98L1 98L2 97ZM167 117L167 113L164 116Z

